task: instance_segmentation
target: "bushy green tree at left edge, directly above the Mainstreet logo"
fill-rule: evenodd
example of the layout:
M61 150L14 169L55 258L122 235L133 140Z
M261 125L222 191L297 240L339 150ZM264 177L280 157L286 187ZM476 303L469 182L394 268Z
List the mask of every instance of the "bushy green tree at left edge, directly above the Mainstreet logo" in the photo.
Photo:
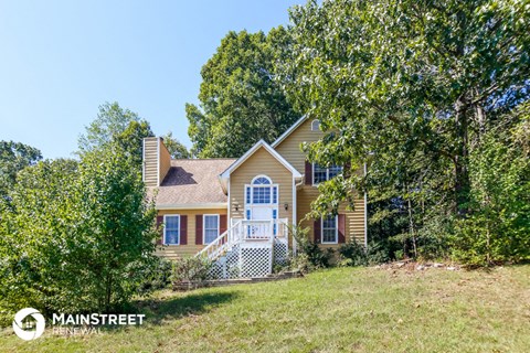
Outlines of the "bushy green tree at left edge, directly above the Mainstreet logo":
M81 218L76 171L73 160L25 168L9 191L10 206L0 204L1 311L72 308L75 298L84 298L76 292L80 263L71 253Z

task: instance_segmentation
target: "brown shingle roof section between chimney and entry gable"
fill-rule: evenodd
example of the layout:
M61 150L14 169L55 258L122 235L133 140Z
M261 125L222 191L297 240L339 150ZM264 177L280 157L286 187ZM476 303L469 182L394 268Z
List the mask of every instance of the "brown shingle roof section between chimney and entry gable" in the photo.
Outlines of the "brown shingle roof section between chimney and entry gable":
M177 159L158 188L157 207L174 204L224 203L219 174L235 159Z

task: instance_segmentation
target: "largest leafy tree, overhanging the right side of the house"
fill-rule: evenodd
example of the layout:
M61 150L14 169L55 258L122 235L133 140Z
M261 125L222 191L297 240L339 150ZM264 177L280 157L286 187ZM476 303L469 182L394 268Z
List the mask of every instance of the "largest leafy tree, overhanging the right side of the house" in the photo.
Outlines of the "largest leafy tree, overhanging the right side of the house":
M277 72L289 99L321 119L326 137L309 157L351 160L352 171L369 163L365 178L347 171L322 184L315 210L369 190L389 206L372 215L399 220L392 235L410 237L473 214L469 156L530 94L529 20L520 1L295 7L290 58Z

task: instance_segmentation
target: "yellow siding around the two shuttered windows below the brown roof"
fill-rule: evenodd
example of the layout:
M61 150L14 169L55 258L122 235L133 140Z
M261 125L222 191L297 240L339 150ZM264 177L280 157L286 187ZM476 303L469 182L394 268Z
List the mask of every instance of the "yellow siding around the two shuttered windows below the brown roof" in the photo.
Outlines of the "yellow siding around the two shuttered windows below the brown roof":
M157 246L156 255L168 259L193 256L204 248L205 245L195 245L195 216L198 214L226 215L226 208L209 210L160 210L159 216L163 215L188 216L188 244L187 245L163 245Z

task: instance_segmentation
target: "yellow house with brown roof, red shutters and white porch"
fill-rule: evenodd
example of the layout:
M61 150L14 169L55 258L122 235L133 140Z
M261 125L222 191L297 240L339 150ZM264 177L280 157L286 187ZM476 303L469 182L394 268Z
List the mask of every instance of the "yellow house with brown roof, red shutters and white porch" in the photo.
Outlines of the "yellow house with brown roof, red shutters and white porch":
M356 239L367 245L365 195L354 211L309 220L317 185L341 167L309 163L303 142L322 137L318 120L300 118L272 145L261 140L239 159L172 160L161 138L144 140L144 181L163 223L157 254L206 256L212 277L262 277L287 259L296 242L288 225L310 228L321 247Z

